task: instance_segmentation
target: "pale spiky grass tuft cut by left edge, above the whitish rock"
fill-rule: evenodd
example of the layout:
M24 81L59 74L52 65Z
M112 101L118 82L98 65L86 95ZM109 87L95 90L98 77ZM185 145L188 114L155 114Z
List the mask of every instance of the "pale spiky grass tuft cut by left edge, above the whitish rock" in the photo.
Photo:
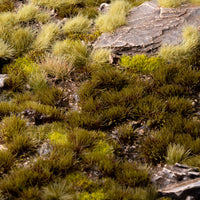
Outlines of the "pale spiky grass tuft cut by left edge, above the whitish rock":
M15 55L15 50L2 39L0 39L0 59L12 59Z

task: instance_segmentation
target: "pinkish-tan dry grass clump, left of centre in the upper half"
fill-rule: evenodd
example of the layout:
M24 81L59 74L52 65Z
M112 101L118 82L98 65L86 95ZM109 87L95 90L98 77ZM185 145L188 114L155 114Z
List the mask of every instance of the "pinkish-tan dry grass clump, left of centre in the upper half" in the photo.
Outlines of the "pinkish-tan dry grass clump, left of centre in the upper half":
M40 67L55 80L65 80L73 68L64 56L47 55Z

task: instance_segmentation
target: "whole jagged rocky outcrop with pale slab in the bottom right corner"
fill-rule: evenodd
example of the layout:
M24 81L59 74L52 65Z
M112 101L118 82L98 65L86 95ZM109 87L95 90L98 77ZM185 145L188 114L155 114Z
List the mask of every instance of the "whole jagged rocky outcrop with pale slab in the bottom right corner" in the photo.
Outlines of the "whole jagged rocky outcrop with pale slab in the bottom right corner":
M200 199L200 172L198 168L176 163L157 168L152 182L160 187L160 196L176 200Z

